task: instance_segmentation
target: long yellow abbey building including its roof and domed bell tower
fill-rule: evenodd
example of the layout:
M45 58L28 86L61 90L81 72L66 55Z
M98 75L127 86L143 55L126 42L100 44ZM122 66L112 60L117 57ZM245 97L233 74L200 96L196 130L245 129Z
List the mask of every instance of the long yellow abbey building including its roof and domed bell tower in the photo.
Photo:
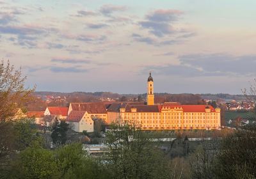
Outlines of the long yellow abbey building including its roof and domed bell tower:
M134 121L143 130L212 130L221 127L220 108L211 105L154 104L154 82L147 82L147 105L125 104L119 111L108 112L108 121Z

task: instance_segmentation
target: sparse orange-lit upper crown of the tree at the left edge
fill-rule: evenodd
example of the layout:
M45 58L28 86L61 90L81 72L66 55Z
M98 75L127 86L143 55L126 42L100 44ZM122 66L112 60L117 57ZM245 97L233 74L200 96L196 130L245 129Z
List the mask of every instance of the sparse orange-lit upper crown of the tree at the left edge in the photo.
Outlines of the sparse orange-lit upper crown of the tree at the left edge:
M0 62L0 122L11 120L16 110L31 100L35 88L25 88L25 81L21 69L15 70L9 61L6 65Z

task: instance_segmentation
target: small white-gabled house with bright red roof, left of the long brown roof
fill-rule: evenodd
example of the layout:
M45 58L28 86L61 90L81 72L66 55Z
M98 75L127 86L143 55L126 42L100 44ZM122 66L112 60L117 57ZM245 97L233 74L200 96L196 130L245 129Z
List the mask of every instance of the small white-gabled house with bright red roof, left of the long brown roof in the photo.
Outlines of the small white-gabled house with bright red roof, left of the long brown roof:
M44 112L45 116L56 116L60 120L67 119L68 107L47 107Z

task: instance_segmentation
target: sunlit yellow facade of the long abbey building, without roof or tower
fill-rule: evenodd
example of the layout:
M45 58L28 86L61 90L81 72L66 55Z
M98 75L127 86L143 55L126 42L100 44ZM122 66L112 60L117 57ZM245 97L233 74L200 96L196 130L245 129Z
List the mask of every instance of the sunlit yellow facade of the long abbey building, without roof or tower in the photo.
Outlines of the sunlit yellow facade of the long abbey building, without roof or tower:
M184 112L182 107L163 107L160 113L137 113L136 109L126 113L125 109L120 109L120 118L136 121L143 130L212 130L221 127L220 109L189 113Z

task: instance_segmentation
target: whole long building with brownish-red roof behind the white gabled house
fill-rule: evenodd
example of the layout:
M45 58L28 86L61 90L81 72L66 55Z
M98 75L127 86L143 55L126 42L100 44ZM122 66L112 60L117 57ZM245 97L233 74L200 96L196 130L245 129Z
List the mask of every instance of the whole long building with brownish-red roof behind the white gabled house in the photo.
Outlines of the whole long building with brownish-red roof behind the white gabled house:
M70 103L68 107L68 115L72 111L83 111L90 114L94 118L107 120L106 105L103 102L86 102L86 103Z

